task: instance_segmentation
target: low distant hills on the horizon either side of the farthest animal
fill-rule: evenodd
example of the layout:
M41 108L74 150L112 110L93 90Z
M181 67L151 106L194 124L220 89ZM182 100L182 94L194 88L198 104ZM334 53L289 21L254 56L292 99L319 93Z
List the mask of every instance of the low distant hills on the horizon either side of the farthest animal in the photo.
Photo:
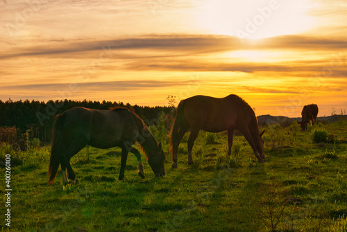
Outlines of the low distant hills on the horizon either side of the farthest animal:
M318 117L318 121L328 121L328 122L335 122L339 120L340 118L347 118L347 115L333 115L328 117ZM257 116L257 120L260 123L266 123L266 124L291 124L294 121L301 121L300 118L288 118L286 116L271 116L269 114L266 115L260 115Z

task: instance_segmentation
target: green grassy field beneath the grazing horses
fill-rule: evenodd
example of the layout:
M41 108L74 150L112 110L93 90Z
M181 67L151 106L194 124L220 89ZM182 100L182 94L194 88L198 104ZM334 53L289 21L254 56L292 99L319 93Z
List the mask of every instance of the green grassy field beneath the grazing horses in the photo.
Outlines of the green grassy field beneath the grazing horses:
M50 148L32 146L12 154L11 227L1 219L1 231L347 231L347 121L308 129L266 126L265 163L256 162L243 136L234 136L227 157L225 133L201 132L194 166L186 164L186 134L178 168L167 157L163 178L142 158L141 179L129 154L127 180L119 181L119 148L84 148L71 159L74 186L62 186L60 172L46 186ZM323 134L322 142L314 134Z

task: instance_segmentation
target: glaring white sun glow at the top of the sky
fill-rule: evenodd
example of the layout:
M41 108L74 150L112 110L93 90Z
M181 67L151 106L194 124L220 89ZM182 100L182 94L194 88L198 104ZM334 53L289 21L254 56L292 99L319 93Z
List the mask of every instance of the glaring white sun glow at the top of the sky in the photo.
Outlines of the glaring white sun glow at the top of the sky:
M217 35L258 39L293 35L310 29L311 0L204 0L198 26Z

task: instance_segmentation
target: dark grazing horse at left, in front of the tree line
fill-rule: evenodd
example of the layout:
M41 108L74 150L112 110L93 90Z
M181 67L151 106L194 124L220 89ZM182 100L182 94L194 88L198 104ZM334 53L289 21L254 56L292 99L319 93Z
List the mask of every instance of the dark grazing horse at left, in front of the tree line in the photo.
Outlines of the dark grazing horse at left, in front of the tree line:
M49 183L53 184L62 167L62 182L69 183L67 172L72 183L75 182L74 170L70 159L86 145L94 148L121 148L121 170L119 179L124 178L128 152L132 152L139 162L139 175L144 178L141 155L133 148L139 144L155 176L164 176L165 155L161 143L153 138L151 132L139 116L124 107L111 110L86 109L75 107L56 116L53 128L51 161L49 163Z

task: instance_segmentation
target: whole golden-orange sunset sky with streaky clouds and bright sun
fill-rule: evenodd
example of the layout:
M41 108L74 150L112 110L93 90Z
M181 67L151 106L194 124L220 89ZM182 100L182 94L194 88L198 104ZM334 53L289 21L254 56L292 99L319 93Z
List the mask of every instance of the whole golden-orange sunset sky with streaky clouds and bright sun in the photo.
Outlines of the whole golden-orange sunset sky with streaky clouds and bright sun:
M0 99L347 111L346 0L0 0Z

